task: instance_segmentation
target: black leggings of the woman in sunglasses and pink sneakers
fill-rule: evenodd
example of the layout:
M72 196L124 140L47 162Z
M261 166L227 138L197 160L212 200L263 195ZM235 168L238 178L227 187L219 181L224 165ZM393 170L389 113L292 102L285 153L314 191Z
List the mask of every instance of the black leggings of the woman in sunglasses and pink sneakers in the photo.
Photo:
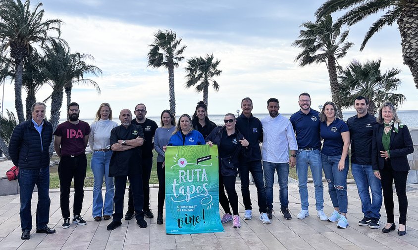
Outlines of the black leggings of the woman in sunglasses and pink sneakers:
M231 204L234 215L238 215L238 195L235 191L235 180L237 176L224 176L219 173L219 203L225 213L231 214L229 204ZM225 188L224 188L225 186ZM228 194L228 197L225 195ZM228 201L229 198L229 201Z

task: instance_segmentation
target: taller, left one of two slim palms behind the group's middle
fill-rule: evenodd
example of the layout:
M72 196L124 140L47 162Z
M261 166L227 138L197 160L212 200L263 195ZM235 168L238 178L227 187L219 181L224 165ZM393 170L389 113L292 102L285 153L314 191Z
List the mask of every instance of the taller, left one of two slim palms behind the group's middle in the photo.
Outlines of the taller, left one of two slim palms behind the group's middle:
M186 46L180 46L181 38L176 39L177 34L172 30L158 30L154 34L154 43L150 44L148 52L148 66L159 68L164 66L168 69L168 88L170 96L170 110L176 113L176 99L174 94L174 68L183 60L181 54Z

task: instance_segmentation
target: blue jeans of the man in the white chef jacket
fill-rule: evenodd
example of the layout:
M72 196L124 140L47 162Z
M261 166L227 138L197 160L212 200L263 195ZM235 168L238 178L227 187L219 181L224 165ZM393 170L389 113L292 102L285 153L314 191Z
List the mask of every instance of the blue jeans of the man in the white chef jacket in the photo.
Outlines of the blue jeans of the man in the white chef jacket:
M273 208L273 184L274 184L274 172L277 172L277 178L279 182L279 200L280 209L289 207L287 182L289 178L289 163L269 163L262 162L264 170L265 180L265 200L267 208Z

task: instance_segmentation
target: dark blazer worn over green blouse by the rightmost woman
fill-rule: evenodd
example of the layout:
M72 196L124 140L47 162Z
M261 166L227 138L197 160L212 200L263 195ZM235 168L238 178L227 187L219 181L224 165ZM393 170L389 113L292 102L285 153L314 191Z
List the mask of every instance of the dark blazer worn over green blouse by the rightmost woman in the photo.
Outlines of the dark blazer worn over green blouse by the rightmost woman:
M383 126L384 125L379 124L373 128L373 141L371 145L371 165L373 170L383 169L385 165L385 159L380 157L380 151L385 151L383 149L382 142ZM414 153L414 144L407 125L404 125L402 128L399 127L398 133L394 132L394 128L392 126L392 131L390 133L389 154L393 170L410 170L411 168L409 167L407 155L412 153Z

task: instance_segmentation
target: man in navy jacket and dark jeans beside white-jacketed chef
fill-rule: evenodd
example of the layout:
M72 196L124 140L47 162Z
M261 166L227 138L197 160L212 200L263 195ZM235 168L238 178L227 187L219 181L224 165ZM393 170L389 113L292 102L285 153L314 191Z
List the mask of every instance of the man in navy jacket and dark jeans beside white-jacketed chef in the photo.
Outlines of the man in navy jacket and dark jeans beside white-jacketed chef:
M241 101L241 116L237 118L236 127L242 133L245 139L250 143L252 154L239 168L241 179L241 193L245 207L244 219L250 220L252 215L252 203L250 198L250 172L253 175L254 183L257 187L257 198L259 203L260 220L264 224L270 224L267 215L267 204L265 202L265 187L263 172L261 166L260 142L262 142L262 125L258 118L254 117L253 101L246 97Z

